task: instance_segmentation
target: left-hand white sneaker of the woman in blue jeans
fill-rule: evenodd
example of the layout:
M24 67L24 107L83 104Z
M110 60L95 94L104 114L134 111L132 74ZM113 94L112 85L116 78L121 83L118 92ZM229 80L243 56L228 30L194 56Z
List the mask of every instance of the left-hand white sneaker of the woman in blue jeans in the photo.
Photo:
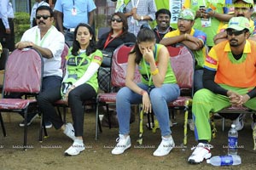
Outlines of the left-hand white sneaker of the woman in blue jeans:
M123 134L119 134L119 139L117 139L118 144L113 148L111 153L113 155L119 155L124 153L125 150L131 147L131 138L128 135L126 138Z

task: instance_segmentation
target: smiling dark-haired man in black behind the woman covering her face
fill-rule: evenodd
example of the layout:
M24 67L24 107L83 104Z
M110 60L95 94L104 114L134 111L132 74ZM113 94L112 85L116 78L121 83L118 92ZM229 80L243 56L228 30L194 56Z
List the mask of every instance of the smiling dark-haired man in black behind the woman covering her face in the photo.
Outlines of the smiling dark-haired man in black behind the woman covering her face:
M170 26L171 12L166 8L160 8L155 13L155 20L157 25L154 27L153 31L156 39L155 42L159 43L166 33L173 30Z

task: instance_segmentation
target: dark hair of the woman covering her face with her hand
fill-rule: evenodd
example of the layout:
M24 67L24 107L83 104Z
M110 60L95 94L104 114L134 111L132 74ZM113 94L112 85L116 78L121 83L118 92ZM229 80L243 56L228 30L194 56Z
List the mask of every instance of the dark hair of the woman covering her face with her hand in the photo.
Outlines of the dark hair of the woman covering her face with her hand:
M143 54L141 53L138 44L140 42L155 42L154 31L150 28L143 28L137 33L137 42L135 43L135 47L130 52L130 54L136 54L135 62L139 64L143 58Z

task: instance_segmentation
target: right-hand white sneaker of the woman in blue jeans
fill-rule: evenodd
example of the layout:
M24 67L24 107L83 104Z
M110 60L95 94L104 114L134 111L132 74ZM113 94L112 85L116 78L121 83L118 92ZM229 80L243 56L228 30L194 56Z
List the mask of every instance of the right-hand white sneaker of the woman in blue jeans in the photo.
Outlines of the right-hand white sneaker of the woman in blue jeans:
M157 150L154 151L153 156L166 156L170 153L172 148L175 146L172 136L165 138L162 136L162 141L159 144Z

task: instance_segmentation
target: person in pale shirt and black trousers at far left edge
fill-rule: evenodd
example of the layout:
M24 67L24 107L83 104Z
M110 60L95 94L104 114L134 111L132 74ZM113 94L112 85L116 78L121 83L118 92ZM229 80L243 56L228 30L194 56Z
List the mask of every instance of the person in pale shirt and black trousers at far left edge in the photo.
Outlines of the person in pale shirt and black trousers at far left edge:
M15 26L14 10L9 0L1 0L0 3L0 42L3 48L9 51L15 50Z

